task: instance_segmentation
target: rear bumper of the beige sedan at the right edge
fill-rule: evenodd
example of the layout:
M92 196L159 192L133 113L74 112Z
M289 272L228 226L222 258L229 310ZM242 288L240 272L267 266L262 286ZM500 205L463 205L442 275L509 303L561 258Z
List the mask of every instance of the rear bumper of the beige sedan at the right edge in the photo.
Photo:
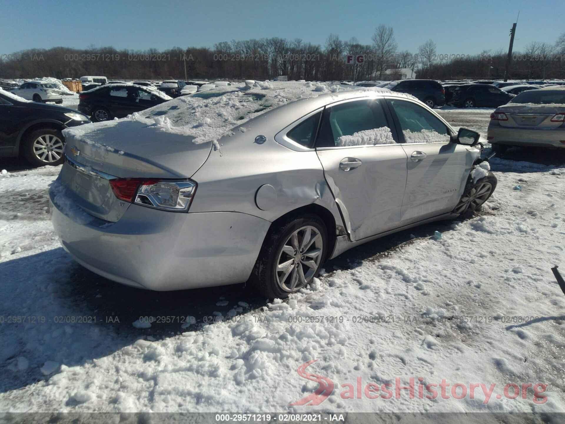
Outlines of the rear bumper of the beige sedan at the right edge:
M487 138L491 144L565 148L565 128L528 129L489 125Z

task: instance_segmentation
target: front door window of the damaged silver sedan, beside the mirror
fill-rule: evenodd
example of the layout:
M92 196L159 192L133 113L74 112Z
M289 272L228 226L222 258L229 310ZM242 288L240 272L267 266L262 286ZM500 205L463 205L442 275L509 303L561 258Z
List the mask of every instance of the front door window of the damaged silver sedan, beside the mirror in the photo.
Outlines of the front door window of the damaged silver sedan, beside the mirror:
M451 133L436 116L416 103L404 100L389 100L398 118L405 143L447 143Z

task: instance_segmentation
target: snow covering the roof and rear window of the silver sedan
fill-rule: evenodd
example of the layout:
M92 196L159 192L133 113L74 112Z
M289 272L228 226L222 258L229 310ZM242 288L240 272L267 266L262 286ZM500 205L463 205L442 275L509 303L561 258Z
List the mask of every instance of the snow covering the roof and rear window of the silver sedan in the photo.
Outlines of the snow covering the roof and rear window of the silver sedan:
M233 128L276 107L292 101L316 98L320 95L336 96L337 101L339 97L343 97L338 96L338 93L342 92L355 92L359 94L359 97L393 94L416 99L410 94L393 93L388 89L375 87L247 80L245 84L221 86L189 96L177 97L162 105L128 115L124 119L143 123L144 128L157 128L159 131L191 136L195 144L217 142L224 135L229 135ZM315 106L322 107L325 102L327 101L324 99L320 105ZM79 137L80 140L89 142L90 132L98 131L108 124L116 123L95 123L80 128L69 128L65 130L66 137Z

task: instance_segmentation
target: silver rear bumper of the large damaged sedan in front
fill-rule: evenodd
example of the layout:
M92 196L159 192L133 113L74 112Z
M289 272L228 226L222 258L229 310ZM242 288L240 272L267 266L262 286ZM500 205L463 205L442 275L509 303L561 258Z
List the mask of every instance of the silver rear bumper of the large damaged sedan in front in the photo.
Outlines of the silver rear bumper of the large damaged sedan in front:
M138 205L112 223L77 211L60 196L50 190L51 220L77 262L115 282L157 291L245 282L271 224L243 213Z

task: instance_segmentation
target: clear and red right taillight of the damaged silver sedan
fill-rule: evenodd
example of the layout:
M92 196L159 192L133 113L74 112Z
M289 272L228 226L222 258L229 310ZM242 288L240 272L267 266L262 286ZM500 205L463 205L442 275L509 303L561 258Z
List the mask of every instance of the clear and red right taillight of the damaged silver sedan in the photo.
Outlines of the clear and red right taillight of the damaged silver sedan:
M144 181L137 189L134 202L157 209L187 211L196 187L190 180Z

